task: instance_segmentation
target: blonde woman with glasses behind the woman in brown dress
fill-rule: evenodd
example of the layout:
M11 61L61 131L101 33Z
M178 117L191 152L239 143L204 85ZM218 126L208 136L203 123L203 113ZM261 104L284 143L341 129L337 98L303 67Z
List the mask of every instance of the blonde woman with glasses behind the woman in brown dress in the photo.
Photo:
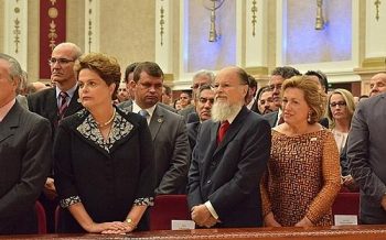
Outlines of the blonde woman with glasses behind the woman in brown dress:
M341 155L342 183L343 186L347 187L350 190L357 190L356 184L350 174L345 151L351 119L353 118L354 111L354 97L350 91L337 88L330 94L328 101L330 129L334 134L337 150Z

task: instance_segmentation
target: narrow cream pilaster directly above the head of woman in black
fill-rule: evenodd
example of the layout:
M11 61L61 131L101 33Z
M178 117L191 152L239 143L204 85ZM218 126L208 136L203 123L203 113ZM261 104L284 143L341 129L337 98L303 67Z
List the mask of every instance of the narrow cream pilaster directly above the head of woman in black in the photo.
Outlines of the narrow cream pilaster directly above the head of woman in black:
M85 0L85 53L99 52L100 0Z

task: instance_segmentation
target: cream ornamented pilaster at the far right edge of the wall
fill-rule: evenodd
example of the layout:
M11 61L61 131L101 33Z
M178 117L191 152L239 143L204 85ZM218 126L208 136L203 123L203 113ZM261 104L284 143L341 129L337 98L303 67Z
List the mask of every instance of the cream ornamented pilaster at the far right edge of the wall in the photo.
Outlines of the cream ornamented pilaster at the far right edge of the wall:
M369 92L369 78L386 72L386 0L366 1L365 59L355 73L361 75L362 94Z

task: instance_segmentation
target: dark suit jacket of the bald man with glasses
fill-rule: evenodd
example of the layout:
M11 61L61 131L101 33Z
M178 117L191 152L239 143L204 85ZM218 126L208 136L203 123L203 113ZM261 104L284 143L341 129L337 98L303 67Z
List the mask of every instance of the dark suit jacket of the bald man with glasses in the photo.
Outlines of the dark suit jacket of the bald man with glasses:
M76 89L67 109L64 112L64 117L72 116L78 110L83 109L83 106L77 102L78 98L78 89ZM36 112L37 114L50 120L53 132L52 138L54 138L58 122L56 89L47 88L29 95L28 102L30 111Z

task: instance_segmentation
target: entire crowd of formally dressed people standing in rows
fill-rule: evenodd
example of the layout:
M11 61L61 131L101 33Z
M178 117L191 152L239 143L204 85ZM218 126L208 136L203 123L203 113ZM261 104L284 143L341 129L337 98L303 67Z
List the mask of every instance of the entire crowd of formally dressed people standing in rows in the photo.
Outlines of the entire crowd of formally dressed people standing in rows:
M49 232L148 230L169 194L197 228L331 226L342 190L361 193L361 223L386 223L385 73L354 97L320 70L280 66L258 86L228 66L173 101L153 62L121 80L112 56L61 43L49 66L52 86L26 92L0 53L1 234L36 233L36 200Z

